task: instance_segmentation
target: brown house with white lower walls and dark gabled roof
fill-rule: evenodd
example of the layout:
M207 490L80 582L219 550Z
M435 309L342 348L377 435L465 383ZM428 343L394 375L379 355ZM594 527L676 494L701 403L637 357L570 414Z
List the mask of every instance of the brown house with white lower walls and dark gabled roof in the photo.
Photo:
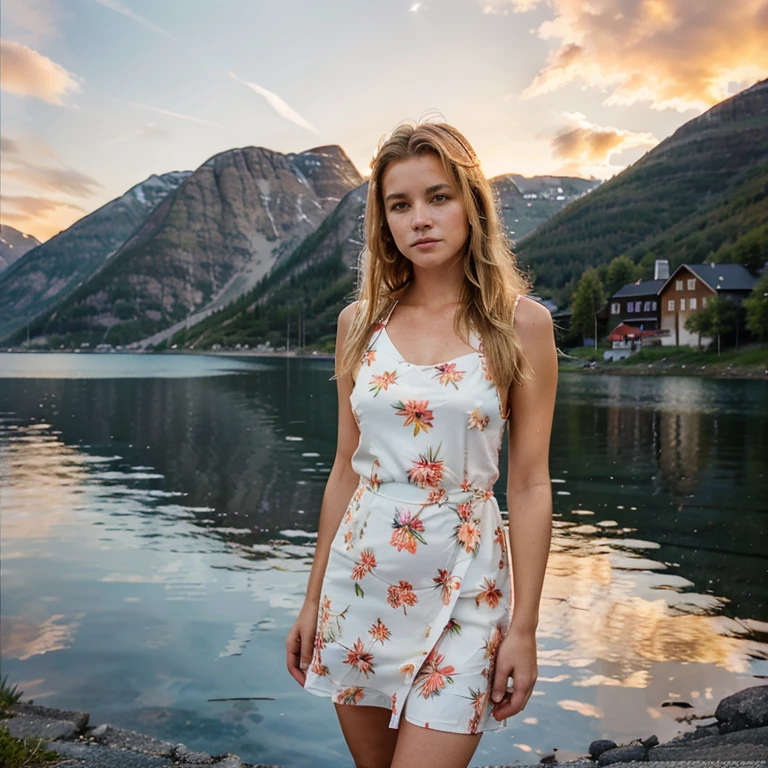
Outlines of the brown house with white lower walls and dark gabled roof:
M708 346L712 339L691 333L685 321L707 306L713 296L727 296L737 304L749 296L757 280L741 264L681 264L659 291L661 328L668 330L664 346Z

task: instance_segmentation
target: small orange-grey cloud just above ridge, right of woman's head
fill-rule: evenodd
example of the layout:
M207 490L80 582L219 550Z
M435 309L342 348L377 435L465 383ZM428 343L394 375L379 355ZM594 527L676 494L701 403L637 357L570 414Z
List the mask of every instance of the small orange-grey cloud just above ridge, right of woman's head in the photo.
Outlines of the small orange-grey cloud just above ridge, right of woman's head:
M562 117L567 124L552 138L551 149L555 158L564 161L568 172L604 178L621 170L621 166L611 164L614 155L659 142L652 133L595 125L578 112L565 112Z

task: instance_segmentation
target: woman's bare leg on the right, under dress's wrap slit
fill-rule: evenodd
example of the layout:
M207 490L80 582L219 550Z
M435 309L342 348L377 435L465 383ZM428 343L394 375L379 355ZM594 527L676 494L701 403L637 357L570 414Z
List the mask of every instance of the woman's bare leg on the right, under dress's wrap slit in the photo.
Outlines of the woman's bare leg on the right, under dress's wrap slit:
M447 733L400 720L391 768L467 768L481 733Z

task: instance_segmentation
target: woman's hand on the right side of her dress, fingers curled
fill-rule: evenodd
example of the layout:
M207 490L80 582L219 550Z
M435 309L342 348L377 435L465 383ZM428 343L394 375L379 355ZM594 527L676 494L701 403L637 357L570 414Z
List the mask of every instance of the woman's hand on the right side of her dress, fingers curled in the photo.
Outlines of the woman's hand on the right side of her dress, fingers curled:
M525 708L538 676L536 631L510 627L496 655L491 691L492 714L496 720L512 717ZM509 678L513 679L510 691Z

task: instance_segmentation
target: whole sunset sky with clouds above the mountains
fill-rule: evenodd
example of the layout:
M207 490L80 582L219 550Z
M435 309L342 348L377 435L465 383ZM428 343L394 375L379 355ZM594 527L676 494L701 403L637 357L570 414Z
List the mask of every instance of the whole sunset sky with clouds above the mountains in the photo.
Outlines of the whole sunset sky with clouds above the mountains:
M0 221L44 241L152 174L444 119L489 177L609 178L768 77L768 0L3 0Z

